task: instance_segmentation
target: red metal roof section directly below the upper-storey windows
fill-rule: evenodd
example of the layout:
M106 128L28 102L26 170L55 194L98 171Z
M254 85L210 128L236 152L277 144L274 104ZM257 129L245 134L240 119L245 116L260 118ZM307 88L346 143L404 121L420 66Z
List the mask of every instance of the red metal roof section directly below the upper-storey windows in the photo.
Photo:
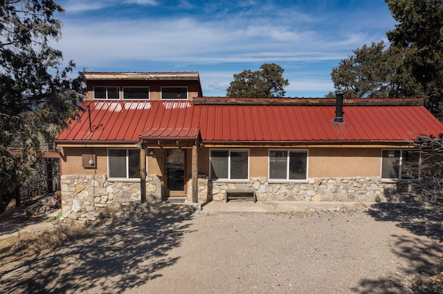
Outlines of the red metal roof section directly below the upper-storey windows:
M196 109L188 101L85 101L82 107L87 106L93 132L86 111L80 121L70 121L56 142L138 142L140 135L188 137L199 128Z

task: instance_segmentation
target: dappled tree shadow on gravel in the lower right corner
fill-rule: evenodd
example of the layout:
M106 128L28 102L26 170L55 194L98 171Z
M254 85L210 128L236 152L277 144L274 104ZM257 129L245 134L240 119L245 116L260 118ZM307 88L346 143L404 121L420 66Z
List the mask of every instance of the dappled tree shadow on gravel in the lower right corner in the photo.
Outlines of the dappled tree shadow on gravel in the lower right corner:
M356 293L443 293L440 284L433 284L428 277L442 270L439 244L443 236L442 211L426 210L418 204L374 204L368 214L380 222L395 222L417 237L392 235L392 252L406 262L401 272L379 280L361 280ZM426 237L426 238L423 238ZM405 276L416 276L406 280Z

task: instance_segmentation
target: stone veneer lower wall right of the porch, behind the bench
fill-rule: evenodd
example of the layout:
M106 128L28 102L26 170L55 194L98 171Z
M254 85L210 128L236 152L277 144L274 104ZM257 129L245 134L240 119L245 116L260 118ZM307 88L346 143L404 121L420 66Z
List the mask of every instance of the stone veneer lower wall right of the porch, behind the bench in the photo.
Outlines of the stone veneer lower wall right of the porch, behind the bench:
M307 182L273 183L265 177L246 183L211 182L214 200L224 200L226 190L254 189L260 201L395 202L410 183L381 182L380 177L310 178Z

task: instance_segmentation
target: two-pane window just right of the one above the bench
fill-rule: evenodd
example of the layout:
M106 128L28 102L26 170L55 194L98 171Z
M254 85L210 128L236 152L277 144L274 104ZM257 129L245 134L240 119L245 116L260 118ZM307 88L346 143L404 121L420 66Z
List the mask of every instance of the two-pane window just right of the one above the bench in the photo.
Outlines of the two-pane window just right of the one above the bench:
M269 179L306 180L307 151L269 150Z

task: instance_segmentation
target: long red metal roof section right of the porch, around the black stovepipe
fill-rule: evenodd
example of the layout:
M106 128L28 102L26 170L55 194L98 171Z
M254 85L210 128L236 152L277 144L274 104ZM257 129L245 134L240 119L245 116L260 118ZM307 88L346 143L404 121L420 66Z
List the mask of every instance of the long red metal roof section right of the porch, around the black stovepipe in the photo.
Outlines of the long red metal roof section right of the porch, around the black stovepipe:
M439 135L443 125L424 106L201 105L204 141L403 141Z

